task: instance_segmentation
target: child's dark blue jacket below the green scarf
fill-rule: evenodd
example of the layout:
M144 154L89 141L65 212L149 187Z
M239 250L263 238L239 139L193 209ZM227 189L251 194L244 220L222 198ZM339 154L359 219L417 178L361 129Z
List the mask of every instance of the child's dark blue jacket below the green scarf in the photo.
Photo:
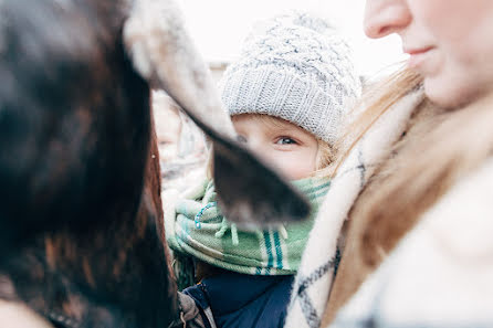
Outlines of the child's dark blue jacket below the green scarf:
M293 278L224 273L183 293L199 308L211 308L218 328L282 328Z

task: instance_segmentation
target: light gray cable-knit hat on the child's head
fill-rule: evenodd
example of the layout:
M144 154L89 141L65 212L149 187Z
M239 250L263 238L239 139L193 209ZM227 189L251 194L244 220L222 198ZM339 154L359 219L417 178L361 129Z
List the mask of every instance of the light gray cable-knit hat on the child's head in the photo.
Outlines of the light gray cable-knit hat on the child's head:
M219 87L230 115L276 116L331 144L361 89L345 39L297 12L255 25Z

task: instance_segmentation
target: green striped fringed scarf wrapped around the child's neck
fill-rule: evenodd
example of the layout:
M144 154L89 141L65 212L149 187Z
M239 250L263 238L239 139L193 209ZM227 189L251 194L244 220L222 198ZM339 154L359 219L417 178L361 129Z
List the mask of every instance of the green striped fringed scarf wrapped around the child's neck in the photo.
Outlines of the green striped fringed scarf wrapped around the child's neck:
M293 184L312 203L307 220L279 229L242 231L220 214L214 186L210 180L203 181L192 197L176 202L175 215L165 215L168 244L174 252L238 273L295 274L331 181L328 178L307 178L293 181Z

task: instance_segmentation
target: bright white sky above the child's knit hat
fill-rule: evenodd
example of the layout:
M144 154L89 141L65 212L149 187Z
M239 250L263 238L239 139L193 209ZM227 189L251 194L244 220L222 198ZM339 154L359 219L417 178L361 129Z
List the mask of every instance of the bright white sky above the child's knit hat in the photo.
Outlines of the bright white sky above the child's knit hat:
M355 50L361 75L375 76L406 59L399 38L363 33L365 0L178 0L187 27L207 61L232 61L251 25L290 9L313 11L338 27Z

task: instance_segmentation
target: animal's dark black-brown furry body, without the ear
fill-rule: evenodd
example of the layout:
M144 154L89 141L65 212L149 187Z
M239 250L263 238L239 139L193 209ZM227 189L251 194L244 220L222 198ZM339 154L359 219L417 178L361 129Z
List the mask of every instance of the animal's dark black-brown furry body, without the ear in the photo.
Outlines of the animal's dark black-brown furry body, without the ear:
M177 316L126 4L0 1L0 299L80 328Z

